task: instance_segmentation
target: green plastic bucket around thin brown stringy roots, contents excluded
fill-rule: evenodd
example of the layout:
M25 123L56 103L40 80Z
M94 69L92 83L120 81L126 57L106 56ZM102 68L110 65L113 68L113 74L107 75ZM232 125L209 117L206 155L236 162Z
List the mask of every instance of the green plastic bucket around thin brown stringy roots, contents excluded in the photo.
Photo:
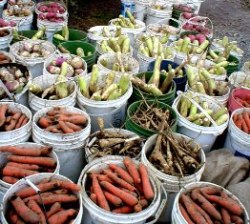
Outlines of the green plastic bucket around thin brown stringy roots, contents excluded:
M176 128L177 128L177 115L176 115L175 111L172 109L172 107L170 107L169 105L167 105L165 103L155 101L155 100L147 100L146 102L147 102L148 105L152 105L153 103L155 103L155 104L157 104L158 108L168 109L170 111L171 118L174 121L173 124L171 124L171 129L173 131L176 131ZM131 116L136 112L136 110L143 103L145 103L145 101L143 101L143 100L136 101L136 102L132 103L128 107L125 127L126 127L127 130L133 131L134 133L140 135L141 137L148 138L148 137L156 134L157 131L143 128L142 126L138 125L137 123L135 123L131 119Z

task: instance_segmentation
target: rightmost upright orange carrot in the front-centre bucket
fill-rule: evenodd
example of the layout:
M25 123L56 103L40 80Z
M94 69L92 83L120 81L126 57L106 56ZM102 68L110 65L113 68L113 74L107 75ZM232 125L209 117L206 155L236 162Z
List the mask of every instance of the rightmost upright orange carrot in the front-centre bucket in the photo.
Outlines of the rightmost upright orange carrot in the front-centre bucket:
M149 201L153 200L154 195L155 195L154 190L149 180L147 168L142 163L139 164L139 173L141 175L142 189L143 189L143 194L145 198Z

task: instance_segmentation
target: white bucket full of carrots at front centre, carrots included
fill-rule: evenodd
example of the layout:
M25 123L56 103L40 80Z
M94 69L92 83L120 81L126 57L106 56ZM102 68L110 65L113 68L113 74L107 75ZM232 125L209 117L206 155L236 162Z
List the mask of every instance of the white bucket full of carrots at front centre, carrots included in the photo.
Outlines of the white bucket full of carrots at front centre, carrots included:
M157 179L146 166L129 157L106 156L92 161L78 184L86 210L83 223L142 224L154 216L156 221L166 203Z

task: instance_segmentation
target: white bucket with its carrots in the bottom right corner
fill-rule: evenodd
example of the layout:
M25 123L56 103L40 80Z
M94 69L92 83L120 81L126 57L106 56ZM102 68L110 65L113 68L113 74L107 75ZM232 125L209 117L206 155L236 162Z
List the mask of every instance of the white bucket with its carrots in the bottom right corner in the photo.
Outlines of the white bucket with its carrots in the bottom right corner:
M173 224L249 223L244 205L230 191L216 184L198 182L186 185L175 198Z

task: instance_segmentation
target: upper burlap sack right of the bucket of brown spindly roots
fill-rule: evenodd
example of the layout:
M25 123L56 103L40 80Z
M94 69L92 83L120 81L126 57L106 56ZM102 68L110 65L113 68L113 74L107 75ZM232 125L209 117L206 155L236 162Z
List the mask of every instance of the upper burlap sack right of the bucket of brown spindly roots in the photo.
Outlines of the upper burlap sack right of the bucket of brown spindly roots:
M206 155L206 168L202 181L227 187L248 177L249 169L250 164L247 159L236 157L226 149L215 150Z

